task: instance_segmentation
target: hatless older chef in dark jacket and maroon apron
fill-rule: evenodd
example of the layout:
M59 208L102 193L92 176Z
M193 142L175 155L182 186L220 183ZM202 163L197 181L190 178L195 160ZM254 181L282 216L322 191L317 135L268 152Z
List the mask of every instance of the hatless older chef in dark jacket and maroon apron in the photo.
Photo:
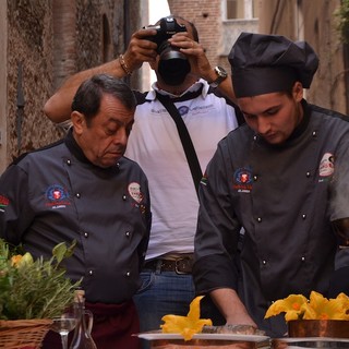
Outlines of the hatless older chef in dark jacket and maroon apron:
M67 137L19 158L0 178L8 202L0 209L1 238L34 257L76 240L67 276L83 278L98 349L139 348L132 297L141 286L151 212L146 177L123 157L134 110L125 84L93 76L75 94ZM44 348L61 344L49 336Z

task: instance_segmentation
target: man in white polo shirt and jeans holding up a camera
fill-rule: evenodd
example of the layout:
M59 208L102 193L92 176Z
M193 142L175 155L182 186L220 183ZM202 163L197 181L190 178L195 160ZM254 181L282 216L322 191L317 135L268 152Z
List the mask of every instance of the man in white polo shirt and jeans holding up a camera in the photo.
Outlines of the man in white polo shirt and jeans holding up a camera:
M62 122L69 119L67 110L77 84L89 75L105 72L121 77L144 62L156 72L151 92L135 92L139 106L125 153L145 171L152 197L151 241L141 274L143 287L135 297L143 332L158 329L165 314L186 315L194 298L191 266L198 209L196 185L176 124L159 95L169 96L180 111L201 170L218 141L238 125L236 106L216 95L219 89L233 97L231 79L226 79L220 68L210 67L195 26L181 17L174 20L161 19L159 26L137 31L124 55L71 76L45 106L48 118Z

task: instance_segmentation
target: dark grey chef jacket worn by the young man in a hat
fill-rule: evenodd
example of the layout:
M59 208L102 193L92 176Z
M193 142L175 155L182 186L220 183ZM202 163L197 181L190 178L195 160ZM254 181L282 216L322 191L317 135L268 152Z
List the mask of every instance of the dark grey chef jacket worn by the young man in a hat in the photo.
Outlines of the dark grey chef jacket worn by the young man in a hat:
M327 294L338 248L330 221L349 217L349 122L302 105L303 121L281 146L266 144L248 125L230 132L200 189L197 292L238 290L270 336L287 330L285 314L263 320L272 301L312 290Z

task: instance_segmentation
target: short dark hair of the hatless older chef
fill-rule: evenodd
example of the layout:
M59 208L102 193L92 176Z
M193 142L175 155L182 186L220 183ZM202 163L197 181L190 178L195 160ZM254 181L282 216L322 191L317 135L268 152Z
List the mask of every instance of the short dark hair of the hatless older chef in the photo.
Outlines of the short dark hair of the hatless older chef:
M105 94L112 95L130 110L136 107L135 96L125 83L107 74L98 74L80 85L72 103L72 111L83 113L88 124L98 113L101 97Z

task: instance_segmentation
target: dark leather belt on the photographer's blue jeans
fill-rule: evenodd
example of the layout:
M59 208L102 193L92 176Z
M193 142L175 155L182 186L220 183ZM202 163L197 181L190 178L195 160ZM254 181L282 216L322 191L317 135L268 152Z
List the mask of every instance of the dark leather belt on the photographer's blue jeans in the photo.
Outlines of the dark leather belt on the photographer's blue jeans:
M193 257L185 256L179 257L174 261L169 260L152 260L145 262L144 269L159 270L159 272L176 272L179 275L192 274L193 269Z

